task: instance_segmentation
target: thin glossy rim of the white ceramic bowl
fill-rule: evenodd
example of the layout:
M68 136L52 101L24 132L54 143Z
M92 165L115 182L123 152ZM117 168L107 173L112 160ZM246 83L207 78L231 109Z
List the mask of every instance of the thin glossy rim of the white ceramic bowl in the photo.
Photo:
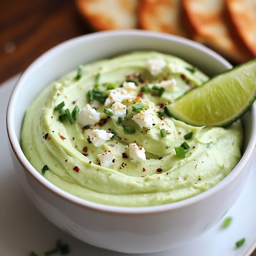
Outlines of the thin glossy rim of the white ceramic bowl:
M20 163L20 165L22 165L24 170L31 177L33 177L38 183L40 183L45 189L47 189L51 193L54 193L56 196L60 197L61 199L64 199L73 204L79 205L80 207L88 208L88 209L96 210L100 212L108 212L108 213L115 213L115 214L117 213L129 214L129 215L154 214L154 213L166 212L171 210L177 210L179 208L183 208L188 205L195 204L199 201L206 200L209 196L219 192L219 190L221 190L223 187L231 183L240 174L244 166L247 165L247 163L251 159L256 147L256 127L255 127L256 105L255 104L253 104L251 108L252 124L253 124L252 135L250 137L248 146L245 149L238 164L222 181L220 181L218 184L216 184L212 188L208 189L203 193L200 193L198 195L195 195L193 197L190 197L181 201L176 201L176 202L171 202L171 203L166 203L161 205L139 206L139 207L115 206L115 205L107 205L107 204L88 201L62 190L61 188L57 187L50 181L43 178L43 176L40 175L40 173L30 164L30 162L27 160L27 158L23 154L23 151L20 147L20 143L18 141L18 137L16 136L16 132L15 132L15 126L14 126L15 115L14 114L15 114L15 102L16 102L16 98L18 97L18 92L21 90L20 88L22 87L22 83L24 80L26 80L27 76L29 76L29 73L33 71L33 68L36 67L38 63L40 63L41 61L45 61L45 59L49 58L52 54L55 53L55 51L62 50L62 48L65 48L65 47L70 47L71 45L80 43L80 41L83 41L83 40L91 40L91 39L99 39L99 38L102 39L104 37L112 37L117 35L118 36L157 37L157 38L178 42L188 47L191 47L192 49L194 48L207 55L210 55L212 58L221 62L225 67L227 67L227 69L232 67L232 65L227 60L225 60L222 56L220 56L213 50L207 48L206 46L201 45L200 43L197 43L195 41L192 41L190 39L186 39L183 37L169 35L169 34L160 33L160 32L151 32L151 31L142 31L142 30L103 31L103 32L95 32L95 33L91 33L91 34L87 34L79 37L74 37L60 44L57 44L55 47L46 51L44 54L40 55L36 60L34 60L28 66L28 68L20 75L8 102L7 115L6 115L7 134L8 134L10 145L12 147L14 154L16 155L16 158L18 159L18 162Z

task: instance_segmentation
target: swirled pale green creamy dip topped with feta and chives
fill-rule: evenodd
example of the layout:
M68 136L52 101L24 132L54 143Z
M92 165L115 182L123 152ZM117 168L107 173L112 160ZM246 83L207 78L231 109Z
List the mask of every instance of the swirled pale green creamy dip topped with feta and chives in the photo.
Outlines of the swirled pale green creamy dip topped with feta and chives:
M193 127L165 108L206 80L157 52L80 66L27 110L22 149L45 179L89 201L149 206L192 197L237 165L242 143L240 121Z

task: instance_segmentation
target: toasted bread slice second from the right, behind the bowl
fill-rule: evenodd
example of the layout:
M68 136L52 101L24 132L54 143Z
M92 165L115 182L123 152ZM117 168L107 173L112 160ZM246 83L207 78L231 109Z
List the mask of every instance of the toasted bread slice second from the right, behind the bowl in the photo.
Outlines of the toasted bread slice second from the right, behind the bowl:
M224 0L183 0L183 9L192 39L235 63L252 58L231 36L224 17Z

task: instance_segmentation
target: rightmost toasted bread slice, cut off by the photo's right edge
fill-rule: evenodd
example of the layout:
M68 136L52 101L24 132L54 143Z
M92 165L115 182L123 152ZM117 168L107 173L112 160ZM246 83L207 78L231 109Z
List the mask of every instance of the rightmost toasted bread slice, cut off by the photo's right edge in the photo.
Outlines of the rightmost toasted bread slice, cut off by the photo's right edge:
M256 56L256 0L226 0L226 7L235 31Z

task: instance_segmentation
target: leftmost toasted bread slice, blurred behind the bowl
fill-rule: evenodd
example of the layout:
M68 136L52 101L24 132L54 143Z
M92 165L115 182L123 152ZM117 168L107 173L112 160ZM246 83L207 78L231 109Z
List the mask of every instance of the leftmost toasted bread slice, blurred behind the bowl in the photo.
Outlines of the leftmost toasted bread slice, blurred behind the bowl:
M94 30L137 28L139 0L76 0Z

